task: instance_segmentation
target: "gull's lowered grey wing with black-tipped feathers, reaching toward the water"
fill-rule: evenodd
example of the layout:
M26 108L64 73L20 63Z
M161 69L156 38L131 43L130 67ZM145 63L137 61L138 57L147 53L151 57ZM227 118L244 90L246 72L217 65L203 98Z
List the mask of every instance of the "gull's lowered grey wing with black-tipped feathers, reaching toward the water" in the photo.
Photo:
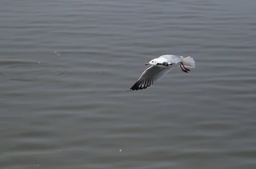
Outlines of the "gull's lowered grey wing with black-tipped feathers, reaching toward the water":
M172 67L151 66L142 73L134 86L128 91L146 89L153 85L157 80L160 80L170 70L172 70Z

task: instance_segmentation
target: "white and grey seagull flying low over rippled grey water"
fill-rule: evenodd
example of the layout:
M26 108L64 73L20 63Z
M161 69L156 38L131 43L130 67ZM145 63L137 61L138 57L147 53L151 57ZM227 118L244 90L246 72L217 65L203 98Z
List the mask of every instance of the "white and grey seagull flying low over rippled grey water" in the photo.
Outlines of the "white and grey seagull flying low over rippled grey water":
M183 72L188 73L188 68L195 67L195 60L192 57L175 56L171 54L162 55L158 58L151 60L145 65L152 65L146 69L134 86L128 91L142 90L153 85L157 80L163 78L174 67L180 66ZM128 92L127 91L127 92Z

